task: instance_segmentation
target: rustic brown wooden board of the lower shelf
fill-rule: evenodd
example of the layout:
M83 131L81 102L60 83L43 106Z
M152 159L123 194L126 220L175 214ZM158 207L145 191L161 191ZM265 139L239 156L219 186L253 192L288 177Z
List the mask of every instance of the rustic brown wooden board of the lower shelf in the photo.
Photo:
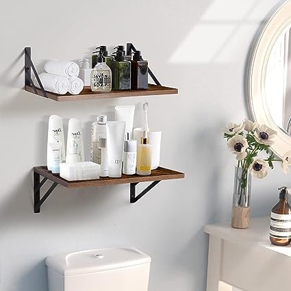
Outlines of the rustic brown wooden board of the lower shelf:
M66 188L106 186L114 184L130 184L171 179L183 179L185 177L184 173L162 167L152 170L151 175L149 176L140 176L136 174L122 175L121 178L100 177L100 179L86 181L67 181L66 179L60 177L60 175L55 175L51 173L51 171L47 170L47 166L36 166L34 167L34 172L40 174L42 177L47 177L47 179L54 181Z

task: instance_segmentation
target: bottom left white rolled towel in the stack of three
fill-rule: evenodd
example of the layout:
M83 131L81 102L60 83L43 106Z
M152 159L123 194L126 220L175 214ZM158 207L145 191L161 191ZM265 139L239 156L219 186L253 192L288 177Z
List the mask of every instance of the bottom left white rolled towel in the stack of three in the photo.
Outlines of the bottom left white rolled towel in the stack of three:
M70 86L68 78L49 73L40 73L38 76L40 77L42 86L46 91L58 94L66 94L66 92L68 92L68 87ZM40 88L36 77L34 77L34 85Z

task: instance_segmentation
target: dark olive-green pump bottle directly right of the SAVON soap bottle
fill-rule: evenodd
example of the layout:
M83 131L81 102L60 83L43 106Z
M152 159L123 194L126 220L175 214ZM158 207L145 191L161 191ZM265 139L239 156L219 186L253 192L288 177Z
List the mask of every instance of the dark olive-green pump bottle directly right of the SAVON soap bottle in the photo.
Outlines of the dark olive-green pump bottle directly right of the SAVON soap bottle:
M114 52L112 61L112 90L130 90L131 88L131 62L124 59L124 51Z

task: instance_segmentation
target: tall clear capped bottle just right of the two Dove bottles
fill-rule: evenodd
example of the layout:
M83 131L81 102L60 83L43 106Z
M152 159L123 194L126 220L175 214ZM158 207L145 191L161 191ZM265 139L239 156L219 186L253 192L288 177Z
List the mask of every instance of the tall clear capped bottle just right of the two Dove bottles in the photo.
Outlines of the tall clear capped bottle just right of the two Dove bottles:
M91 162L100 164L99 157L101 151L98 147L99 138L106 138L106 115L99 115L97 121L92 123L92 134L91 134Z

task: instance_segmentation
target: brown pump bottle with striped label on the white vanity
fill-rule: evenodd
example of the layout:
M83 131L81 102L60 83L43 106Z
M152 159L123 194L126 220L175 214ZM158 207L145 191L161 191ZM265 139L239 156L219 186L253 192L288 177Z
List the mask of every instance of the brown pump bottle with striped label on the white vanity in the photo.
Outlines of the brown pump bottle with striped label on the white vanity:
M279 203L270 214L270 242L275 246L288 246L291 242L291 207L287 187L281 187Z

